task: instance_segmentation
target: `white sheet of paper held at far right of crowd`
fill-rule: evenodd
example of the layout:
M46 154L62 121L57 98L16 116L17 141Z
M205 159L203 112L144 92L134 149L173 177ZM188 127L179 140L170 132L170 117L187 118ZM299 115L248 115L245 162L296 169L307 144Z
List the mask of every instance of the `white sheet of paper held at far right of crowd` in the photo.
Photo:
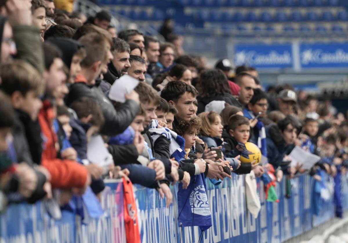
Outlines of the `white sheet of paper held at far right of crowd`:
M297 163L303 164L302 169L312 168L316 162L320 160L319 156L316 156L313 153L310 153L299 146L296 146L291 153L289 154L291 158L290 166L296 166Z

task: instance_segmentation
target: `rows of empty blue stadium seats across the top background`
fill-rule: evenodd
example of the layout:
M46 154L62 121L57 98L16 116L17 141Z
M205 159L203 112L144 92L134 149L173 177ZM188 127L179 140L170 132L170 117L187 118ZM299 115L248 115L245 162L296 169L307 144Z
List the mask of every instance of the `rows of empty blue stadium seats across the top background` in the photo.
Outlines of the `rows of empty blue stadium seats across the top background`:
M344 0L98 0L112 13L158 28L166 17L176 26L234 34L276 32L347 34Z

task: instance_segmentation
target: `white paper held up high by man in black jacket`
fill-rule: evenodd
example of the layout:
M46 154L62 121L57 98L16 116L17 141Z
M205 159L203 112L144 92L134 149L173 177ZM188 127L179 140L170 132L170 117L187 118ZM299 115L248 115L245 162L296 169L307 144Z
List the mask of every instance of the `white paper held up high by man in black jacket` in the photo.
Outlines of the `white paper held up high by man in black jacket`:
M124 103L126 102L125 94L129 94L139 84L139 80L125 74L116 79L109 91L111 100Z

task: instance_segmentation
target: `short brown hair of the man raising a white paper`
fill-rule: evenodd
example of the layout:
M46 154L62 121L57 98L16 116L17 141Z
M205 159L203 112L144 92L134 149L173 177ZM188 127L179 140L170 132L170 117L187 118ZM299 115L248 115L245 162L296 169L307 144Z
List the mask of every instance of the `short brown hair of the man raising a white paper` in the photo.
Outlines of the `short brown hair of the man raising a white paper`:
M84 44L86 57L81 61L82 67L90 67L95 62L104 62L106 59L106 43L104 37L97 33L82 36L79 42Z

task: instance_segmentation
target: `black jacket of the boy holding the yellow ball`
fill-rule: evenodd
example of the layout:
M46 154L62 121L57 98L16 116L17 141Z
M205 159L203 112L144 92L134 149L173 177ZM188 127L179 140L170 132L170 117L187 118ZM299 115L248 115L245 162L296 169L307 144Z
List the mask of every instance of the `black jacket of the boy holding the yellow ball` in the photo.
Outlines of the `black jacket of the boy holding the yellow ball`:
M223 141L226 142L226 157L236 157L240 153L236 149L237 141L228 133L228 127L225 126L222 131L222 138ZM240 163L240 167L236 170L233 170L232 172L236 174L249 174L251 171L251 163Z

